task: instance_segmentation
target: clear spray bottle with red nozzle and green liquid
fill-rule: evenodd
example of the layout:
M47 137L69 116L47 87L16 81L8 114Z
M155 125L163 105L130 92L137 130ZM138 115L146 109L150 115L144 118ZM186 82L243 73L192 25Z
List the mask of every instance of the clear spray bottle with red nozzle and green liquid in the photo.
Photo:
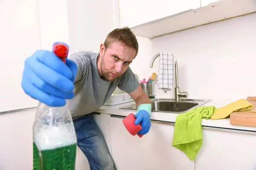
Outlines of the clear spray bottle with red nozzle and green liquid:
M69 47L54 43L53 52L64 63ZM50 107L39 102L33 124L33 170L75 170L76 131L67 104Z

